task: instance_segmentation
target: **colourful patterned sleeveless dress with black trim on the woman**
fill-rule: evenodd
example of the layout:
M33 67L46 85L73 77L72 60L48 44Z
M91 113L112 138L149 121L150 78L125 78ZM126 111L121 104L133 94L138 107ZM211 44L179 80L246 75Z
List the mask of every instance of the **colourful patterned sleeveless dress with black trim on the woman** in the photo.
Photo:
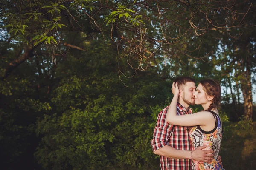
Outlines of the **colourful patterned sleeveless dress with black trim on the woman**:
M200 126L192 127L189 132L192 150L195 150L198 146L207 145L204 150L214 150L215 157L211 163L198 162L192 159L192 170L224 170L224 168L218 163L218 153L221 148L221 120L218 114L210 111L215 118L215 128L209 132L201 129Z

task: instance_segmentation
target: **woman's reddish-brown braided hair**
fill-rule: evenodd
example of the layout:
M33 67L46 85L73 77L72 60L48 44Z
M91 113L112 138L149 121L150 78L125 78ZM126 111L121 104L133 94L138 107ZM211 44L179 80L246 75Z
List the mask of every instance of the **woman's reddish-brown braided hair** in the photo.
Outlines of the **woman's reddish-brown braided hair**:
M213 108L218 108L221 103L221 86L218 82L212 79L205 79L199 82L208 96L212 96L212 103L205 111L211 111Z

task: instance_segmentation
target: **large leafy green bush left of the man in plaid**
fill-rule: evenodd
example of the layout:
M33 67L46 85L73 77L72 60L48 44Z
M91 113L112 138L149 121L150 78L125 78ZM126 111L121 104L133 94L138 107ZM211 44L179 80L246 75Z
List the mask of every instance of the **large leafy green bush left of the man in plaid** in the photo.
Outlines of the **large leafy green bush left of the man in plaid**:
M152 154L150 141L159 104L162 109L170 94L170 83L152 71L145 73L151 80L140 73L126 80L129 87L125 87L116 70L105 65L116 60L116 51L111 48L92 42L83 54L84 61L70 56L60 65L59 71L65 69L68 74L52 98L57 113L37 121L36 133L43 137L35 157L44 169L156 167L158 159ZM97 55L104 59L96 60ZM88 67L69 68L78 63Z

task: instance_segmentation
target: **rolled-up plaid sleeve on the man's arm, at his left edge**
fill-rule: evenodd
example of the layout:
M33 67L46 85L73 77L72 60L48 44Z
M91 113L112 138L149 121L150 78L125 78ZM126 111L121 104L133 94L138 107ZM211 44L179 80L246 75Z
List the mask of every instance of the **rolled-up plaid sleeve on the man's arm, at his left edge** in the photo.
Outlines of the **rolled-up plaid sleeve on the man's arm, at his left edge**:
M166 113L169 107L164 108L157 117L157 124L154 128L153 139L151 146L153 152L169 145L169 137L172 134L173 126L166 122Z

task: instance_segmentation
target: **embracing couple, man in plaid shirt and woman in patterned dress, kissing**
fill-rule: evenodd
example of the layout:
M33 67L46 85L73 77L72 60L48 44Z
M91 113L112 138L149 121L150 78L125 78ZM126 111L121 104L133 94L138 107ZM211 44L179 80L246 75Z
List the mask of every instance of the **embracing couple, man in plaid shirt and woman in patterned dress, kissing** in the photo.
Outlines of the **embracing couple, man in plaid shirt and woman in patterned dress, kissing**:
M172 84L174 97L157 117L153 152L160 155L162 170L224 170L218 156L222 125L217 107L220 85L212 79L199 82L179 77ZM202 105L192 114L189 105Z

